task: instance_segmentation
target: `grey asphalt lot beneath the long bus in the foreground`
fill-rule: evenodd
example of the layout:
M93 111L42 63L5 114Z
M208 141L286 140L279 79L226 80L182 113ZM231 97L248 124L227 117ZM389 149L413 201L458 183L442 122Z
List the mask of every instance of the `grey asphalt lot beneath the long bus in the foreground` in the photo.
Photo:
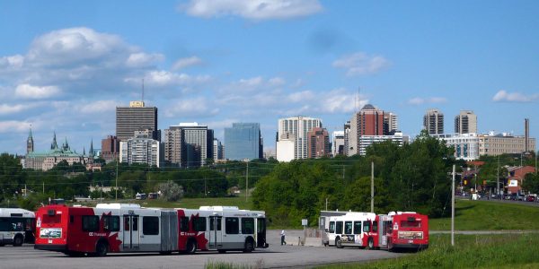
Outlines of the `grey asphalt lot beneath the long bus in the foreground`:
M252 265L263 268L303 268L314 265L366 262L376 259L393 258L403 255L384 250L358 248L338 249L336 247L297 246L301 230L287 230L287 243L280 246L280 230L268 231L269 248L253 253L215 251L198 252L195 255L172 254L109 254L105 257L69 257L62 253L35 250L31 245L23 247L0 247L0 268L204 268L208 263L225 262L235 265Z

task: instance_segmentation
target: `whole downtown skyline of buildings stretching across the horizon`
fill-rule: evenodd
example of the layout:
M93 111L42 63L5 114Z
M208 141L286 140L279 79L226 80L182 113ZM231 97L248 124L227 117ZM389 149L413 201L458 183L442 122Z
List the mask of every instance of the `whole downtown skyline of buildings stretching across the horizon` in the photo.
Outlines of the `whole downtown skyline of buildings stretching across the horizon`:
M535 138L529 137L529 120L525 120L525 135L478 132L477 116L462 110L455 116L455 133L446 133L444 114L429 109L423 117L423 129L455 149L455 158L473 161L481 155L523 153L535 151ZM337 155L365 155L373 143L392 141L402 145L410 138L399 130L398 116L367 104L353 113L342 129L331 134L322 119L286 117L278 119L275 155L264 155L259 123L233 123L225 127L222 143L214 130L198 123L180 123L166 129L158 128L158 109L146 107L143 101L131 101L128 107L116 108L116 134L102 139L102 148L78 153L66 141L58 146L56 133L50 150L34 151L31 131L27 152L22 158L25 169L52 169L61 161L82 163L87 169L100 169L97 158L105 162L143 163L155 167L199 167L208 161L250 161L275 157L278 161L327 158Z

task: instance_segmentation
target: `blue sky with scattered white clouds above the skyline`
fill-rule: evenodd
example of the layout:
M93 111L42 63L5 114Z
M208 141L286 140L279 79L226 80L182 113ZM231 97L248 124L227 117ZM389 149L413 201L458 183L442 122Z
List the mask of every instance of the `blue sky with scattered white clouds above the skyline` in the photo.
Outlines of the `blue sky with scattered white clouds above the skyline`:
M437 108L473 110L480 133L539 137L538 1L0 0L0 152L53 134L77 152L115 134L142 99L158 127L278 118L342 130L370 103L415 136ZM225 143L225 141L223 141Z

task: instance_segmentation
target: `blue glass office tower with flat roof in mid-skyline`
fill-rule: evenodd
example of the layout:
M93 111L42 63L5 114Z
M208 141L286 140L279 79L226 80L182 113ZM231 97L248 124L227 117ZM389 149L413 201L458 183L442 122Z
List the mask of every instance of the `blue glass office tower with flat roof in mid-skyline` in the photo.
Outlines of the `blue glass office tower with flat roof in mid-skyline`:
M263 157L261 125L259 123L233 123L225 128L225 159L242 161Z

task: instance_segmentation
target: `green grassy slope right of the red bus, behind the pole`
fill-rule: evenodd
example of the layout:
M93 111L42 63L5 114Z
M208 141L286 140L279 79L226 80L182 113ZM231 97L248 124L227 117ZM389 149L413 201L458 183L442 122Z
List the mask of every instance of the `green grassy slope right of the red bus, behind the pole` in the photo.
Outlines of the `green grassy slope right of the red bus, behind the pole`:
M430 219L429 230L451 230L451 218ZM539 207L457 200L455 230L539 230Z

